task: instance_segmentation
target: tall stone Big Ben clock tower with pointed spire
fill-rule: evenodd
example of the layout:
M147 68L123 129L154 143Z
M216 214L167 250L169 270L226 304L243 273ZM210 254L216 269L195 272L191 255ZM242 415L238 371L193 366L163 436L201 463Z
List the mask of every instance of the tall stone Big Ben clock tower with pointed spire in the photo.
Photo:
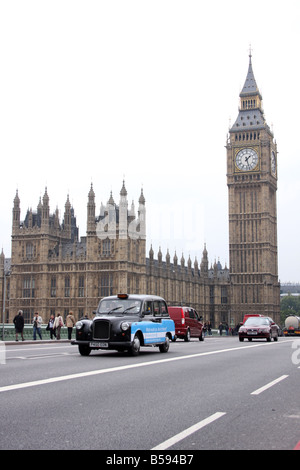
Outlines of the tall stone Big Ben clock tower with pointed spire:
M252 57L227 141L231 319L259 313L279 321L277 146L266 123Z

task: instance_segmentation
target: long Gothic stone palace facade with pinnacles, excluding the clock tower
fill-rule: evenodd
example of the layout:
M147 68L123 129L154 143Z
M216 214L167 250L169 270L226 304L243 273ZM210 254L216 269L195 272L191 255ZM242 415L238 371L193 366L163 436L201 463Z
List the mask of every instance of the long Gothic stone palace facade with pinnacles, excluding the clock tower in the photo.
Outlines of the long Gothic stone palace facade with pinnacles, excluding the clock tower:
M117 205L112 194L96 215L91 186L87 203L86 236L78 239L74 209L69 197L63 221L58 210L50 214L47 189L37 210L27 211L21 221L18 193L13 205L12 258L7 276L6 317L12 322L19 309L30 322L38 311L44 322L51 314L64 317L72 311L78 319L92 316L99 299L119 292L161 295L169 305L193 306L214 325L229 319L229 270L215 262L209 269L208 253L178 262L175 253L154 258L151 247L146 257L146 210L143 191L137 214L128 208L125 184ZM2 282L4 255L0 263ZM8 268L7 268L8 269Z

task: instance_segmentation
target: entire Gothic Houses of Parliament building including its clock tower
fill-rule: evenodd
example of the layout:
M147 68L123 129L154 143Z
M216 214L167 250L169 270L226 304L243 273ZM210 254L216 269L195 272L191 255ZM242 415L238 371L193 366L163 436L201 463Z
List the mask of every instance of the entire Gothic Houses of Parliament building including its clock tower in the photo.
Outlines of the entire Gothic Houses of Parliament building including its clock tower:
M264 118L252 57L240 93L238 116L227 142L229 267L169 252L146 253L146 201L129 208L125 182L96 211L91 185L86 234L79 239L74 209L67 197L63 220L50 213L47 188L35 211L21 219L18 191L12 210L11 258L0 255L0 306L5 322L23 310L25 322L39 312L76 319L91 316L99 300L119 292L153 294L168 305L194 307L213 327L235 326L246 313L279 321L277 266L277 146ZM88 190L88 188L87 188Z

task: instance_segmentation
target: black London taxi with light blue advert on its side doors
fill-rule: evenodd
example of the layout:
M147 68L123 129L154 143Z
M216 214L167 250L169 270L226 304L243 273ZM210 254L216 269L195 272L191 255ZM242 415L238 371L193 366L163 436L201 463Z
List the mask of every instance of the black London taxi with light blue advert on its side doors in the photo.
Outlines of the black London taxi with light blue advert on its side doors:
M151 295L118 294L104 297L93 320L76 323L79 352L88 356L92 349L128 351L137 356L141 346L158 346L161 352L169 350L169 341L175 335L165 300Z

